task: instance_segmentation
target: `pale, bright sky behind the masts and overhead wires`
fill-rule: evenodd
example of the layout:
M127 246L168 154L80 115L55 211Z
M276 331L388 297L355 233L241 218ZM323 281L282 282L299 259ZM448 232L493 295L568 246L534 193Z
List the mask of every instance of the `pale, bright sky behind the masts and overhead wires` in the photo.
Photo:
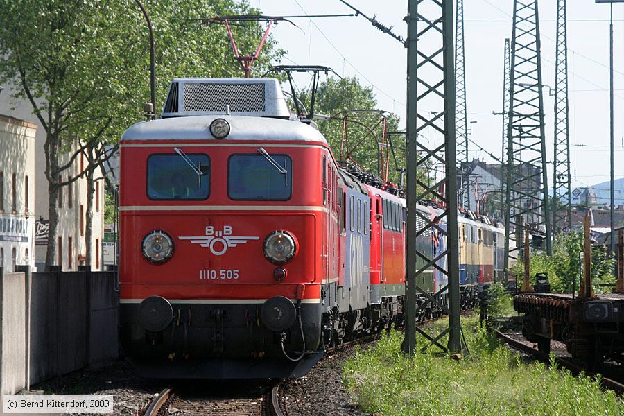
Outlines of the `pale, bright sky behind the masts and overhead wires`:
M250 0L266 15L343 14L352 10L339 0ZM351 0L352 6L406 37L407 1ZM548 162L553 159L555 85L555 0L541 0L542 80ZM382 5L382 6L380 6ZM503 49L511 37L512 0L464 0L465 67L471 139L500 157L503 107ZM572 186L609 180L609 5L593 0L568 1L569 125ZM406 49L363 17L293 19L272 31L286 50L281 64L322 64L340 76L356 76L373 88L381 110L394 112L405 125ZM615 176L624 177L624 3L614 5ZM307 78L297 78L307 83ZM554 94L554 90L551 94ZM434 139L435 142L435 139ZM471 157L494 162L471 145ZM552 165L548 167L552 186Z

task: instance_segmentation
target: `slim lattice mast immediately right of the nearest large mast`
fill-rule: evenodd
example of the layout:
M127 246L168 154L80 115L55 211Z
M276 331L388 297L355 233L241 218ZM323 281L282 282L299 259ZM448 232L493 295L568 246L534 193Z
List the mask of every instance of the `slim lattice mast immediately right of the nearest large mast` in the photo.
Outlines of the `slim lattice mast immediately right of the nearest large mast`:
M460 173L467 173L468 160L468 114L466 106L466 71L464 49L464 0L456 1L455 21L455 137L457 162ZM463 177L463 175L462 175ZM461 180L460 180L461 181ZM470 209L470 191L467 182L460 182L461 204Z

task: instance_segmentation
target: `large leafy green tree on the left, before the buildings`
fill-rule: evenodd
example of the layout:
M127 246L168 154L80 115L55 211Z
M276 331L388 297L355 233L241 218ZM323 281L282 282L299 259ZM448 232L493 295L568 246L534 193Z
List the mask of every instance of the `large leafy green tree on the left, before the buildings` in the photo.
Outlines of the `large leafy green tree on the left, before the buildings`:
M246 1L188 0L146 2L155 29L157 105L173 76L240 76L225 29L193 18L255 12ZM257 46L257 22L235 26L241 50ZM270 38L255 71L279 57ZM46 266L55 263L58 189L83 152L89 165L87 262L90 261L93 174L130 124L140 120L148 101L149 49L146 24L133 0L0 1L0 83L15 85L15 98L28 100L46 135L50 232ZM88 263L87 263L88 264Z

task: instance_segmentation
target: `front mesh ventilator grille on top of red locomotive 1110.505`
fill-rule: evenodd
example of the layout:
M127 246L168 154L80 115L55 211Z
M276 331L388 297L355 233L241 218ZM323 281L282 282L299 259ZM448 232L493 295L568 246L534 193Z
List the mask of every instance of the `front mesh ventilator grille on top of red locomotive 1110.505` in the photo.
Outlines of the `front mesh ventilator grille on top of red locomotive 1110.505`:
M185 112L223 112L225 105L232 112L263 112L264 84L184 83Z

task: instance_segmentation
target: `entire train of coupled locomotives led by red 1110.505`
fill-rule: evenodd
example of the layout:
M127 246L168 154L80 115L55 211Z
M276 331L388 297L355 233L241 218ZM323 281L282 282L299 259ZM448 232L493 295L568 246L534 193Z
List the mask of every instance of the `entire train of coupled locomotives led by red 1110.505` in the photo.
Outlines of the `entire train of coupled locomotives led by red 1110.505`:
M300 376L324 348L400 323L406 202L367 177L291 116L277 80L173 80L162 119L121 138L125 354L146 376ZM505 280L504 231L471 212L459 222L470 306ZM430 257L446 243L416 242ZM435 268L420 279L446 284Z

